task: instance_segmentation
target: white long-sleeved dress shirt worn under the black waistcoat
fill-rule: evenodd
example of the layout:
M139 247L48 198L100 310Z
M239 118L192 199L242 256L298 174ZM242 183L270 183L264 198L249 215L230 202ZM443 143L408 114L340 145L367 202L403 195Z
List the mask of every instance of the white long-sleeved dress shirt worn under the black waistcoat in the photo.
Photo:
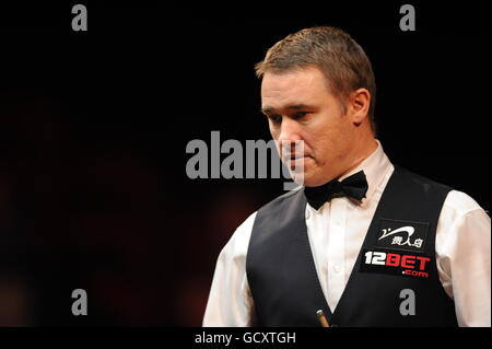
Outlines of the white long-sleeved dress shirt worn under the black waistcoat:
M333 198L318 210L306 206L306 225L323 292L335 311L382 194L395 167L382 144L358 167L368 189L362 203ZM254 300L246 276L246 255L256 213L249 216L219 255L203 326L250 326ZM441 283L454 299L459 326L491 326L491 223L468 195L449 191L436 229L436 264Z

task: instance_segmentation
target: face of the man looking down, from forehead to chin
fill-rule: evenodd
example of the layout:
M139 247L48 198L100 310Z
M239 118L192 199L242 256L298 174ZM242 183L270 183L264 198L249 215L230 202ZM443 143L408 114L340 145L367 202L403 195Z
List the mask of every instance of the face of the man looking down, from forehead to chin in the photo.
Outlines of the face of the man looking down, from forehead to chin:
M261 83L261 104L278 149L282 141L304 141L305 186L323 185L351 165L356 141L354 127L350 117L342 114L340 102L329 91L320 70L308 67L267 72ZM280 154L284 164L292 167L294 162L286 163L284 156L294 154ZM301 163L297 159L295 166Z

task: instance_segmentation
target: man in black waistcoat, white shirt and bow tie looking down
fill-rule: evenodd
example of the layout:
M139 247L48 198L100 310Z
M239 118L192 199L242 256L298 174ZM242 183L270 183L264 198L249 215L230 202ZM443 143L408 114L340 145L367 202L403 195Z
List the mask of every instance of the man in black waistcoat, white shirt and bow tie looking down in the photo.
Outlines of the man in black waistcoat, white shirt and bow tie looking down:
M257 74L279 144L303 141L304 188L222 249L204 326L490 326L490 218L464 193L394 166L375 138L375 80L344 32L271 47ZM278 147L281 149L281 147Z

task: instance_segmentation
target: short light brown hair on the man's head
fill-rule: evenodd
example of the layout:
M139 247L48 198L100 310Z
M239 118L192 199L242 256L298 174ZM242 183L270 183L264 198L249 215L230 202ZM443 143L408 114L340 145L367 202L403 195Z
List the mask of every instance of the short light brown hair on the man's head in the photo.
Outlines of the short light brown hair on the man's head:
M345 32L332 26L315 26L290 34L267 51L255 66L256 74L281 73L315 66L325 75L328 86L345 112L344 101L351 92L366 89L371 94L367 112L371 128L376 133L374 108L376 81L370 59L362 47Z

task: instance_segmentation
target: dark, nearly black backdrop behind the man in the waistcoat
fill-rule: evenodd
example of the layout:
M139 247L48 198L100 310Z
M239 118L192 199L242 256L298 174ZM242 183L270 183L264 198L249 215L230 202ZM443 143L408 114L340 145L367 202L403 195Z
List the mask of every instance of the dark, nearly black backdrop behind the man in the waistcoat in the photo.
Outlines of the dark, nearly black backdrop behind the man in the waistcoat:
M390 160L490 209L489 2L0 7L0 325L199 326L215 259L282 179L189 179L186 144L269 140L254 65L348 31ZM224 156L222 158L224 159ZM71 292L89 315L71 313Z

